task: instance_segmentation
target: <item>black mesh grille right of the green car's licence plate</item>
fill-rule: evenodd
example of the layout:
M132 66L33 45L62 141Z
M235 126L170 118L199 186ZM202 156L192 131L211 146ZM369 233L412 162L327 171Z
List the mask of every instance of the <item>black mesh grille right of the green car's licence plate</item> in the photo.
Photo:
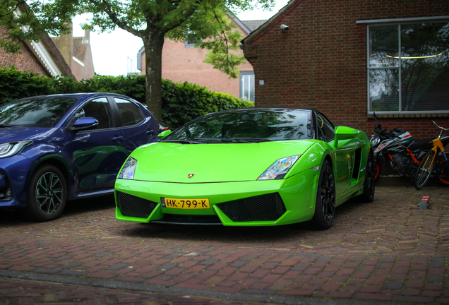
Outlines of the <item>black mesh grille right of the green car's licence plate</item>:
M217 206L233 222L274 221L286 211L279 193L227 201Z

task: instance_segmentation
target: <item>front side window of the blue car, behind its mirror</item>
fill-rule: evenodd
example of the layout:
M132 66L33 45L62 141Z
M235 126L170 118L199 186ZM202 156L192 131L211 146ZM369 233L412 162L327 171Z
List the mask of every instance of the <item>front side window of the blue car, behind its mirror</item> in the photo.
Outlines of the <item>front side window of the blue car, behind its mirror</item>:
M97 119L98 125L92 127L92 129L106 129L114 127L111 115L111 108L106 97L101 97L96 100L92 100L85 104L75 114L75 119L80 117L92 117Z

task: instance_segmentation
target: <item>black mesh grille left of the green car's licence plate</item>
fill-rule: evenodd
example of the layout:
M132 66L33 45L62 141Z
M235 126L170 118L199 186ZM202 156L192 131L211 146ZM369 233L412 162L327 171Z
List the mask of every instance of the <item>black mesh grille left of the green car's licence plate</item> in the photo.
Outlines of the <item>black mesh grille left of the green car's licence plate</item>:
M157 203L146 199L117 192L117 199L121 215L126 217L148 218Z

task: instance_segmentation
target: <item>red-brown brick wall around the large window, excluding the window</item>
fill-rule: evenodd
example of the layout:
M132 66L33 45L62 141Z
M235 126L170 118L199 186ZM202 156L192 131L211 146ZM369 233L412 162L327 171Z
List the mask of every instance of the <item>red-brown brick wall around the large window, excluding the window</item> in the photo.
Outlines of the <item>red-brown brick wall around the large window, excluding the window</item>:
M366 25L357 20L431 16L449 16L449 1L290 1L245 40L256 78L256 107L315 107L331 121L371 135L375 121L367 114ZM289 30L281 30L282 24ZM436 136L432 119L449 127L448 114L381 116L384 128L403 128L415 138Z

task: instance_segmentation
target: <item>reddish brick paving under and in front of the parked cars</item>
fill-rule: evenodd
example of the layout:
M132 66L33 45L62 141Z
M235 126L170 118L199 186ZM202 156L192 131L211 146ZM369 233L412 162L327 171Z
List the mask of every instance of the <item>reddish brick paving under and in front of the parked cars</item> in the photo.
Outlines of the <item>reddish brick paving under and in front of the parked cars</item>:
M421 239L433 239L435 230L440 234L439 240L449 240L445 230L449 225L445 221L447 209L444 210L448 201L441 200L441 208L419 211L425 212L419 217L426 220L418 220L416 209L407 210L414 201L412 197L418 195L403 188L384 188L376 192L370 209L361 208L358 203L339 207L335 225L328 231L271 227L264 231L263 239L257 234L260 230L253 228L217 227L199 233L194 227L186 227L186 234L181 226L143 228L131 222L117 223L114 209L96 211L104 215L104 221L86 228L73 229L80 225L78 222L71 222L70 228L54 222L26 223L28 232L30 227L39 228L40 237L36 237L37 234L11 234L20 225L0 213L0 269L28 273L45 270L49 275L62 277L240 294L256 291L280 296L449 304L445 278L449 274L449 246L436 246L431 241L411 242L419 234L424 234ZM236 235L237 231L244 234ZM64 237L58 238L58 234ZM114 238L119 234L124 237L120 241ZM276 240L275 246L264 243L270 239ZM372 239L376 240L374 247ZM62 291L48 290L47 298L54 296L59 300ZM1 284L0 293L3 296ZM119 294L100 299L104 304L131 304Z

